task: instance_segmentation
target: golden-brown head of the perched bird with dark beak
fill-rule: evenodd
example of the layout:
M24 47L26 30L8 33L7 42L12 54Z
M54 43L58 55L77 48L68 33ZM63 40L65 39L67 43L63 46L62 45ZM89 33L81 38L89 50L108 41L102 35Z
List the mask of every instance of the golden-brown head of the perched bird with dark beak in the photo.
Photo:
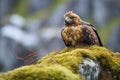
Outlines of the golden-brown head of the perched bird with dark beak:
M68 11L64 15L65 18L65 25L66 26L78 26L81 24L81 19L80 17L73 13L72 11Z

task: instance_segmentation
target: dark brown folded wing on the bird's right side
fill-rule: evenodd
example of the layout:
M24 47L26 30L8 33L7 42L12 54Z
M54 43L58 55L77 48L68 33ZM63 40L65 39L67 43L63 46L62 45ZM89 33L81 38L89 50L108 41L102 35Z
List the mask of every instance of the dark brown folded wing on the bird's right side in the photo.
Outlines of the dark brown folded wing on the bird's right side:
M94 26L84 21L82 22L82 25L83 25L83 34L85 35L84 36L85 42L88 43L89 45L96 44L99 46L103 46L101 39Z

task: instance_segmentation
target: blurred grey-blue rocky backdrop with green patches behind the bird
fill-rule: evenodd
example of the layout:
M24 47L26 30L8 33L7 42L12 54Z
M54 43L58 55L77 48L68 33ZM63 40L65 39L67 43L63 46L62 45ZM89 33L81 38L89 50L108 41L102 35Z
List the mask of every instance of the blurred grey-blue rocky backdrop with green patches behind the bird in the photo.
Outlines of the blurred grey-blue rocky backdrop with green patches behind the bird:
M0 0L0 72L63 49L69 10L95 25L105 47L120 52L120 0Z

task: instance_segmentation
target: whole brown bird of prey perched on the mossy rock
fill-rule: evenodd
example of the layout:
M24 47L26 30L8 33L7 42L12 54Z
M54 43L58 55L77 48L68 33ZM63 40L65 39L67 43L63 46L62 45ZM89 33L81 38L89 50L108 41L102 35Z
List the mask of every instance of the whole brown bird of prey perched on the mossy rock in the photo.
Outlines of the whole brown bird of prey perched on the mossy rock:
M65 13L64 18L65 26L61 31L61 35L66 46L103 46L100 37L92 24L82 21L80 17L72 11Z

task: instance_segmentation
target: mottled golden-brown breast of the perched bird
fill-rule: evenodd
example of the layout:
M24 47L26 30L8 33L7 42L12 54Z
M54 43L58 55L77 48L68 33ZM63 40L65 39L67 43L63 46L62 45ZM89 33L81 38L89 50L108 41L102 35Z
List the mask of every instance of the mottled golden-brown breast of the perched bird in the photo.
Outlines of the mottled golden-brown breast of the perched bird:
M82 26L65 27L62 31L62 38L67 45L76 46L83 40Z

